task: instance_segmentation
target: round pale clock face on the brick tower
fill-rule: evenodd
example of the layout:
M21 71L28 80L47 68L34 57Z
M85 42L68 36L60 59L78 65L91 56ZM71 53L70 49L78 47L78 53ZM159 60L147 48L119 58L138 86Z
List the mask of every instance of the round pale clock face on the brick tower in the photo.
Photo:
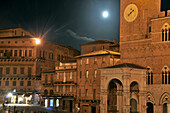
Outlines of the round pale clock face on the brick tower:
M129 4L124 11L124 18L127 22L133 22L138 16L138 7L135 4Z

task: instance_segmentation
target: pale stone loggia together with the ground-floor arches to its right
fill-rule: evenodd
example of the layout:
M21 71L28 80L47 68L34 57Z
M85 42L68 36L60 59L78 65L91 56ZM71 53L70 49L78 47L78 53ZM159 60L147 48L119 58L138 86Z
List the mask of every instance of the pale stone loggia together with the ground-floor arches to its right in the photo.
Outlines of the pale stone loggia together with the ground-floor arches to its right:
M150 90L146 84L146 69L134 65L100 70L100 113L170 112L169 94ZM154 98L157 95L160 95L159 99Z

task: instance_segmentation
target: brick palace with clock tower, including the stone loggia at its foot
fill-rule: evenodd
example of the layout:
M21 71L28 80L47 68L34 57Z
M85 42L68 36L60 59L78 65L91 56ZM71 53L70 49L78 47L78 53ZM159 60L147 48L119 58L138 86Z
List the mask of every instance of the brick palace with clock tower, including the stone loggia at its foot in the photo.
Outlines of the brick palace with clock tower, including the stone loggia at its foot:
M109 107L119 113L170 111L170 11L161 11L161 2L162 0L120 1L121 59L119 65L101 69L101 77L104 78L101 85L106 84L101 89L101 113L111 112ZM137 71L138 65L145 69ZM112 92L109 84L115 87ZM120 84L123 89L119 95ZM132 86L136 88L136 96L131 90ZM114 96L108 96L109 91ZM119 96L123 98L121 105L118 102ZM107 98L115 98L116 102L111 105Z

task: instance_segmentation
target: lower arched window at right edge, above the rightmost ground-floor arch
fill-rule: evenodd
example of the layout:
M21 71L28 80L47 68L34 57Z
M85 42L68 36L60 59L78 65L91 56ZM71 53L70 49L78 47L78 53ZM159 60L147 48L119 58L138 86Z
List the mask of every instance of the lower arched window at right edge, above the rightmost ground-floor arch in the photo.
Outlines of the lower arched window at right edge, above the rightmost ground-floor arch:
M170 84L170 72L167 66L162 69L162 84Z

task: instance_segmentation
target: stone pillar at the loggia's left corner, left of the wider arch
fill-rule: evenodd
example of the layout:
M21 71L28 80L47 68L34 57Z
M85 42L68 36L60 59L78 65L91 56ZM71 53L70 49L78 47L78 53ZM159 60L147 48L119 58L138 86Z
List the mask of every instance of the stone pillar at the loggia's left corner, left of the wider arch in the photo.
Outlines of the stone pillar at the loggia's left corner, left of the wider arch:
M101 89L100 113L107 113L107 89Z

